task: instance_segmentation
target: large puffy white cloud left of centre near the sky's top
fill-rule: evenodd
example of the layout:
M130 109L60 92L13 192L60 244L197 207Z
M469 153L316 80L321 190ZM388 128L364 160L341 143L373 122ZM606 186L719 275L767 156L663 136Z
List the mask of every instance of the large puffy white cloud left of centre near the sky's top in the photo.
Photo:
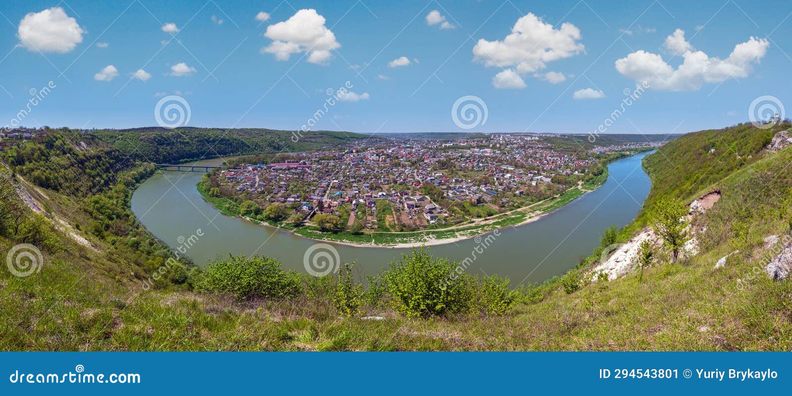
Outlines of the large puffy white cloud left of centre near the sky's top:
M264 36L272 43L261 48L261 53L273 54L276 60L285 61L291 54L310 52L308 62L325 63L330 58L330 50L341 47L325 21L315 9L300 9L287 21L267 27Z

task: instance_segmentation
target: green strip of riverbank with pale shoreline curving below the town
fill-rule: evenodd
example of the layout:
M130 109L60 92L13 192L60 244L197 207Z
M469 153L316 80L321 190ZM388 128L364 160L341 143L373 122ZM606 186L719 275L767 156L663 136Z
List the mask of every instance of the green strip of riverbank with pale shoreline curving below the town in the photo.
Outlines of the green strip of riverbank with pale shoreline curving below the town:
M346 230L339 232L323 232L318 226L313 224L304 224L295 227L285 222L261 221L243 216L239 213L239 202L235 202L229 198L211 197L208 189L204 187L204 183L202 182L197 183L196 190L198 190L206 202L211 203L212 206L227 216L239 217L253 224L261 224L269 228L276 228L280 231L289 232L309 239L328 241L351 247L386 247L398 249L436 246L447 243L458 243L466 239L473 239L490 232L495 232L501 228L519 227L524 224L539 221L539 219L552 213L554 210L604 185L608 177L607 164L615 160L632 157L644 151L646 150L636 150L634 152L612 155L603 160L602 164L605 167L604 172L597 175L596 178L589 180L587 183L580 182L576 187L569 188L562 194L546 198L543 201L535 202L529 206L524 206L520 209L514 209L505 213L499 213L491 217L471 219L465 224L412 232L360 232L359 234Z

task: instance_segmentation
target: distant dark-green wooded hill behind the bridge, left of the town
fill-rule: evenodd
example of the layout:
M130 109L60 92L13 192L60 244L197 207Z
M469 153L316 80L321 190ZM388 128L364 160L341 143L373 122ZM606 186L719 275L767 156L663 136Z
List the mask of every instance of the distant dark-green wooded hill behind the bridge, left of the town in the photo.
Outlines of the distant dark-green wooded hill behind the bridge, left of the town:
M158 164L242 154L291 153L356 141L373 143L381 139L351 132L258 128L135 128L96 130L91 134L121 153Z

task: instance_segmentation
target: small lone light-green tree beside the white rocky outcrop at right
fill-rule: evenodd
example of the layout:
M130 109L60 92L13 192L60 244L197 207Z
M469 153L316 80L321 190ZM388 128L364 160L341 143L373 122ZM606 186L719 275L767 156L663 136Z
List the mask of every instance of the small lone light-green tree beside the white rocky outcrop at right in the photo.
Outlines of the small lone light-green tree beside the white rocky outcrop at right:
M687 206L680 199L663 198L657 202L650 219L652 229L663 239L664 246L671 249L673 262L676 262L680 248L690 240L687 236Z

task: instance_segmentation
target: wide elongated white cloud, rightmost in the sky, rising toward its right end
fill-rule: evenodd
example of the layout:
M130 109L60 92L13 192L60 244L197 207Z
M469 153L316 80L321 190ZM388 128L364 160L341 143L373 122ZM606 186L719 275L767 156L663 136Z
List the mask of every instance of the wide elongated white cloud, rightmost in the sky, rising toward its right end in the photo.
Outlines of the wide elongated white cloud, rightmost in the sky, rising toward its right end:
M680 36L677 32L668 36L666 43L668 39L672 39L672 47L685 47L681 43L684 41L683 33ZM725 59L710 58L703 51L688 50L683 53L683 62L676 69L668 65L661 55L641 50L617 60L615 66L624 77L634 79L649 89L695 91L704 83L717 83L729 77L748 77L753 72L752 65L759 63L767 53L768 45L766 39L757 40L751 37L748 41L734 46L729 58Z

